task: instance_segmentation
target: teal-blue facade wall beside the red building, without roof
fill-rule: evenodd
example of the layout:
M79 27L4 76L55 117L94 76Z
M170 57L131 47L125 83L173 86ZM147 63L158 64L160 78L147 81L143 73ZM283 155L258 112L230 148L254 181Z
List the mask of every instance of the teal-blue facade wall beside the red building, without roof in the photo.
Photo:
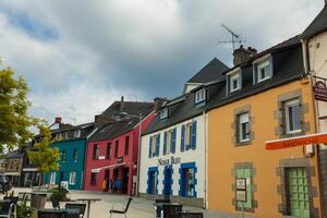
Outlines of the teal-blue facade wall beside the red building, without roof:
M64 160L59 164L59 171L53 172L56 173L56 184L59 185L61 181L66 181L70 190L83 190L86 140L60 141L55 143L53 147L58 147L60 154L65 153ZM74 149L76 149L78 154L77 160L73 158ZM70 184L71 172L76 173L74 184ZM45 174L46 184L50 184L51 173L52 172Z

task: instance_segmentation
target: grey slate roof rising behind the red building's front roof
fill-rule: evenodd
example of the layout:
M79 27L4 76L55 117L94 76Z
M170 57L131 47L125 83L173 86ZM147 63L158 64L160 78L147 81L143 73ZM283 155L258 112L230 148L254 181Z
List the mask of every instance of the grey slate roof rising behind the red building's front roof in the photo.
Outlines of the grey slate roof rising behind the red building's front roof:
M128 113L130 116L140 116L142 113L143 117L150 113L154 108L154 102L140 102L140 101L123 101L123 108L121 109L121 101L114 101L102 112L104 116L108 118L114 118L114 116L120 114L121 112Z

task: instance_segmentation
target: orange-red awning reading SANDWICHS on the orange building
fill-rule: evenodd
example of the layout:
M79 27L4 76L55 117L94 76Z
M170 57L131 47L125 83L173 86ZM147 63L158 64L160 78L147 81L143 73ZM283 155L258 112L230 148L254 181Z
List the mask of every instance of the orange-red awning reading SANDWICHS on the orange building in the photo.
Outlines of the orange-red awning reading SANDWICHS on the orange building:
M327 144L327 133L317 133L282 140L267 141L266 149L274 150L320 143Z

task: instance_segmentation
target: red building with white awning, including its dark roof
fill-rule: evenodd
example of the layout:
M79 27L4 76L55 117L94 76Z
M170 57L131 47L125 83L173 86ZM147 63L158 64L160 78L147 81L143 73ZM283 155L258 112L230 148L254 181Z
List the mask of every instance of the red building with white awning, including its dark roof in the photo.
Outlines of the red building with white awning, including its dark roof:
M135 102L137 105L137 102ZM126 106L126 104L124 102ZM131 106L131 105L130 105ZM137 105L138 109L140 104ZM100 128L87 143L84 189L134 195L136 187L140 129L154 118L154 104L144 105L143 119L125 114ZM108 110L108 109L107 109ZM120 109L122 110L122 109ZM107 181L107 185L104 181Z

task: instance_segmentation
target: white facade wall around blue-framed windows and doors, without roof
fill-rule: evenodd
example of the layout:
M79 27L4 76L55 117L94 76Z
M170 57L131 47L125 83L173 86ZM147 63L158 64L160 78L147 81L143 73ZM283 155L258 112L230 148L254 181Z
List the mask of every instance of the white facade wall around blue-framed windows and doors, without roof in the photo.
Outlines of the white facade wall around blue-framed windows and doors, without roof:
M196 121L196 148L181 152L181 135L182 135L182 125ZM177 130L175 137L175 153L164 155L164 134L169 130ZM159 143L159 155L158 157L148 156L149 153L149 138L154 135L160 134L160 143ZM140 195L147 198L155 198L158 195L164 195L164 180L165 180L165 168L171 167L172 169L172 193L171 198L175 202L182 202L183 204L194 205L198 207L203 207L205 205L205 178L206 178L206 169L205 169L205 147L206 147L206 131L205 131L205 116L198 116L193 119L186 120L184 122L178 123L173 126L160 130L158 132L143 135L142 136L142 149L141 149L141 171L140 171ZM171 158L179 159L177 164L171 164ZM160 161L168 160L168 165L160 165ZM181 167L183 165L193 164L196 167L196 184L195 191L196 196L193 197L182 197L181 196ZM149 169L158 169L158 178L157 178L157 194L148 194L148 170Z

